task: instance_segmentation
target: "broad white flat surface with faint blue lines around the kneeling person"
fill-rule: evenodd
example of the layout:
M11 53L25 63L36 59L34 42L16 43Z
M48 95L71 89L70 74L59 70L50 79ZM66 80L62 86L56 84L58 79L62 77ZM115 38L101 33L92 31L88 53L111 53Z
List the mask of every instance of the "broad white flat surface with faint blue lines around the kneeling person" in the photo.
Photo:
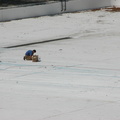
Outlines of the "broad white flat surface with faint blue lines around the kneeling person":
M119 25L104 10L0 23L0 120L120 120Z

